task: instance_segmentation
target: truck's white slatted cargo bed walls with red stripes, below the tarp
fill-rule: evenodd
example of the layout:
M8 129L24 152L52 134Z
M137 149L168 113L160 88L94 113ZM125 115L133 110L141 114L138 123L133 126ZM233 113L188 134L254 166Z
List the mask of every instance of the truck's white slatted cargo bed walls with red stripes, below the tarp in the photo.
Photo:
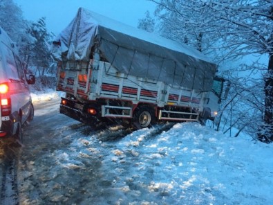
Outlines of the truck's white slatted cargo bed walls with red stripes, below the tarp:
M131 100L133 104L154 103L158 107L179 105L202 109L206 93L173 88L162 82L119 73L108 62L82 63L82 68L67 67L59 70L57 89L73 94L79 100L111 98ZM76 69L75 69L76 68ZM91 69L92 68L92 69Z

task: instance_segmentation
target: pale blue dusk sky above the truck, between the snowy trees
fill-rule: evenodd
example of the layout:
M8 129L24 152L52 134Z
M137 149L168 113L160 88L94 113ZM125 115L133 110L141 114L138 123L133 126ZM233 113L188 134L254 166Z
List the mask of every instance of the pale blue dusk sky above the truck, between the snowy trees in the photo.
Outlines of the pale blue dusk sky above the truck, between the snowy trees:
M46 17L49 32L58 35L76 16L79 7L87 8L124 24L137 27L138 19L149 10L153 14L155 4L147 0L13 0L30 21Z

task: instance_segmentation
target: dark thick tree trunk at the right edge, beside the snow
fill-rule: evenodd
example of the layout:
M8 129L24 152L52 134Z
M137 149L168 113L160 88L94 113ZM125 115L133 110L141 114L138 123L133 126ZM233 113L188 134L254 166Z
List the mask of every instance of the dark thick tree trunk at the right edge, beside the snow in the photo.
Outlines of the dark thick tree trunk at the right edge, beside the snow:
M268 72L265 77L265 114L258 139L265 143L273 142L273 53L270 54Z

